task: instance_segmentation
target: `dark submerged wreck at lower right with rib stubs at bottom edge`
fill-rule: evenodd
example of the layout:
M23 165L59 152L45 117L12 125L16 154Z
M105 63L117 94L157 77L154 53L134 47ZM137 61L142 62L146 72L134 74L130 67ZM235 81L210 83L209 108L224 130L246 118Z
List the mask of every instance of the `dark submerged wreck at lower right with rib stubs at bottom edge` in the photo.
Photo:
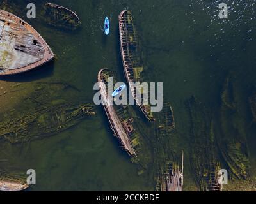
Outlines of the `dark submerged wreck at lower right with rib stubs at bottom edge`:
M191 167L200 191L221 191L213 124L204 105L194 96L188 101L191 119Z

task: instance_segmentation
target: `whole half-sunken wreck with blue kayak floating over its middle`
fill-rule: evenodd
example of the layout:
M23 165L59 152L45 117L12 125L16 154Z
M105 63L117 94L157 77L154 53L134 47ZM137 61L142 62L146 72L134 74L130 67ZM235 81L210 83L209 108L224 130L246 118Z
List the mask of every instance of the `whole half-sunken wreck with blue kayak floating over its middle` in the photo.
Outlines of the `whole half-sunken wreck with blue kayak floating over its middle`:
M133 119L125 117L123 106L111 105L110 95L106 88L108 87L109 77L113 77L113 71L109 69L100 70L98 74L98 82L104 110L108 117L113 135L120 140L123 148L131 157L137 157L134 148L138 143L136 142L136 137L134 137L134 128L132 126Z

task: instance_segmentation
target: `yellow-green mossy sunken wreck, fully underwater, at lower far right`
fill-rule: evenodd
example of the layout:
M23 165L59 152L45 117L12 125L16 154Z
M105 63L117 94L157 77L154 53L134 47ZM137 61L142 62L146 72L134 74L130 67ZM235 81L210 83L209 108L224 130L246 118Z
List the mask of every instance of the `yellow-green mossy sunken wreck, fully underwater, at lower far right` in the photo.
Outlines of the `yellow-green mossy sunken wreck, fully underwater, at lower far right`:
M218 147L232 175L236 179L248 179L250 161L243 126L244 120L238 112L237 96L234 83L231 80L228 77L223 86L223 93L233 97L228 103L226 98L222 97L220 110L221 135L217 140Z

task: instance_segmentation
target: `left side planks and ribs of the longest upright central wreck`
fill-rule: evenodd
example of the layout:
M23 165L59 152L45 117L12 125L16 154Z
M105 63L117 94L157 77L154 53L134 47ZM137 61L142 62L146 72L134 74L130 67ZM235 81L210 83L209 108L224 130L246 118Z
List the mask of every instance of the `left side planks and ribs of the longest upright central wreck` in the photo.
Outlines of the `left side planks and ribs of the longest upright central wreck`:
M136 56L129 56L129 49L132 45L131 41L129 39L133 39L133 38L137 38L135 30L134 30L134 25L133 22L132 24L132 28L131 25L128 25L127 20L125 19L124 15L131 15L130 11L124 10L120 13L118 20L119 20L119 34L120 34L120 49L121 49L121 55L122 55L122 62L123 62L123 66L124 66L124 73L125 73L125 78L127 80L127 83L129 84L129 89L131 89L132 92L132 96L134 97L136 104L140 107L141 112L143 112L143 114L145 115L145 117L149 120L149 121L154 121L155 119L150 116L150 110L147 110L148 107L146 108L145 105L143 105L143 96L141 96L141 102L138 101L138 98L136 96L136 92L134 92L134 83L138 82L138 80L135 80L134 75L136 75L136 73L134 73L134 68L136 68L134 66L134 60L136 61ZM132 19L131 19L132 21ZM131 28L131 31L127 31L127 27ZM131 34L131 32L134 32ZM131 35L128 38L128 34ZM132 45L134 47L136 47L136 45ZM138 56L137 56L138 57ZM140 64L141 66L141 64ZM139 69L139 67L137 67ZM143 69L143 67L142 67ZM138 73L140 73L140 71L138 71Z

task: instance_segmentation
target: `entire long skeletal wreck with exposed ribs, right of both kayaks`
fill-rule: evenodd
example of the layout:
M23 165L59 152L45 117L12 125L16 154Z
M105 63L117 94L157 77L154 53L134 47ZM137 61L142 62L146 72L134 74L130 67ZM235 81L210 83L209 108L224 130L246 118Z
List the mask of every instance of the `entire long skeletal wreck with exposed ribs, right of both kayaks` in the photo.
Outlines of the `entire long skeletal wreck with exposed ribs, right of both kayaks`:
M134 83L140 82L141 73L144 68L138 51L138 36L132 14L130 11L124 10L120 13L118 19L120 49L127 83L140 110L148 120L154 121L155 119L150 110L151 107L150 105L146 105L148 101L145 101L146 99L143 98L143 94L137 96L136 87L134 86ZM139 101L138 98L141 100Z

